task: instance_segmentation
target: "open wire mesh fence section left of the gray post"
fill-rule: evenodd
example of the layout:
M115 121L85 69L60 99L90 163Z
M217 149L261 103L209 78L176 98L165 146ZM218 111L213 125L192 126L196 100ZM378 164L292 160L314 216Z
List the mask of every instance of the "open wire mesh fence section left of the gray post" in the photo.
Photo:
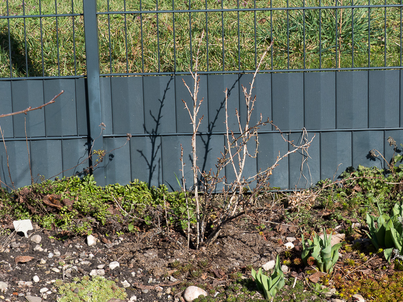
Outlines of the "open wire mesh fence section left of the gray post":
M86 74L83 0L0 3L0 79Z

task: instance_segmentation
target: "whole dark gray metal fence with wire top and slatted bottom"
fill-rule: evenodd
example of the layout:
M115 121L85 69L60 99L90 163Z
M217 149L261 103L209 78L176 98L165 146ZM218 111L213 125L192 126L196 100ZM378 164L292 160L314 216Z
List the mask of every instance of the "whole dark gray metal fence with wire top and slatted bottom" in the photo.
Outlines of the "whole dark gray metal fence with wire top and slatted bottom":
M65 91L44 110L0 120L12 179L29 184L29 166L34 177L73 175L88 166L81 162L94 144L93 150L112 150L94 171L98 184L137 178L176 188L180 144L190 172L191 128L182 103L190 97L182 79L191 84L203 31L203 169L214 167L223 149L223 91L229 89L230 112L244 112L241 85L248 86L272 42L255 83L254 120L259 113L271 117L296 141L302 128L316 136L309 170L303 169L308 181L301 177L303 155L294 154L271 185L309 186L333 177L341 163L338 174L359 164L382 167L369 150L388 159L388 136L403 141L402 8L401 0L6 0L0 3L1 113L43 105ZM234 116L230 126L237 126ZM127 133L132 138L124 145ZM272 127L261 129L259 147L246 174L288 150ZM0 148L0 177L11 186Z

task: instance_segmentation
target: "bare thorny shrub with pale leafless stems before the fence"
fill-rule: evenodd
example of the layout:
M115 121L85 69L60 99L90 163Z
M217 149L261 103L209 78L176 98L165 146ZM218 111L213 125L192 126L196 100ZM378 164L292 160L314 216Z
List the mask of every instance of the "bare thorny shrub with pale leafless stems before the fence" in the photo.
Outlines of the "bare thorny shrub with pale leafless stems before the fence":
M232 219L239 217L240 215L249 212L252 210L252 205L255 205L257 199L261 197L261 195L266 192L269 188L268 179L272 175L273 169L275 169L279 162L288 157L290 154L297 152L300 150L302 154L307 154L307 149L312 142L312 139L307 138L306 131L303 132L303 139L298 144L295 144L293 141L288 140L283 132L274 125L273 121L270 118L263 120L260 114L260 119L256 124L251 124L251 116L252 111L254 110L254 105L256 101L256 96L252 96L253 84L256 78L256 74L259 70L260 64L263 62L263 59L268 51L273 45L264 52L262 55L259 64L257 65L256 71L253 74L252 82L250 83L249 92L246 87L242 86L242 91L245 97L246 103L246 122L242 124L240 113L237 109L235 109L235 115L237 117L239 129L233 130L229 128L228 123L228 89L225 91L225 125L226 125L226 143L224 145L224 150L221 152L221 157L218 158L218 162L216 164L216 171L212 170L200 171L197 166L197 154L196 154L196 135L198 134L198 128L200 126L201 121L203 120L203 116L201 118L197 117L198 111L200 109L201 104L203 103L203 99L198 100L197 93L199 89L199 81L200 78L197 73L197 65L198 65L198 56L200 51L200 44L203 40L204 32L201 34L199 46L196 54L194 71L190 69L190 73L193 79L193 91L191 91L190 87L183 81L185 87L189 91L189 94L192 98L192 105L188 106L185 101L183 101L185 105L185 109L188 111L190 116L190 121L193 127L191 145L192 145L192 172L193 172L193 194L194 194L194 202L196 208L196 224L197 224L197 236L196 236L196 248L199 248L201 244L210 245L219 235L222 227ZM190 108L189 108L190 107ZM253 176L244 175L244 169L246 160L248 157L256 158L257 156L257 148L258 148L258 130L260 127L265 125L273 125L276 130L279 131L279 134L282 136L284 141L291 145L290 150L281 155L279 155L276 161L272 166L267 167L264 170L260 170L259 173ZM248 150L248 143L254 144L254 151L252 153ZM183 157L181 157L182 161L182 174L183 174ZM304 161L302 162L304 164ZM232 170L235 174L235 179L233 181L228 182L225 176L220 175L223 169L226 166L232 167ZM182 177L183 187L184 178ZM212 232L207 234L206 225L208 222L207 211L210 208L212 201L214 199L214 194L218 192L217 185L222 186L221 197L225 201L222 211L219 213L219 217L217 220L212 223L213 228ZM203 195L200 195L199 192L203 192ZM200 198L203 196L203 198ZM201 201L203 201L203 208L201 205ZM239 210L239 206L242 205L242 209ZM201 213L203 211L203 213ZM189 235L188 235L189 238ZM206 238L206 240L205 240Z

